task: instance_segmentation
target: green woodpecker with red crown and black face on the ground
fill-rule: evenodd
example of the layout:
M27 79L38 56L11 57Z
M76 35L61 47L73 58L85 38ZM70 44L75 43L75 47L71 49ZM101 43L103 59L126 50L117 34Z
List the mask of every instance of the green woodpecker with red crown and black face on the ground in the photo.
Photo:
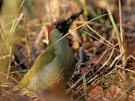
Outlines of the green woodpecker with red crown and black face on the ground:
M83 11L78 12L68 19L51 24L48 30L49 47L36 59L32 68L13 88L13 91L22 88L28 88L34 92L53 90L56 85L62 82L64 85L64 82L69 80L75 69L75 58L66 38L61 37L68 32L71 24L82 13Z

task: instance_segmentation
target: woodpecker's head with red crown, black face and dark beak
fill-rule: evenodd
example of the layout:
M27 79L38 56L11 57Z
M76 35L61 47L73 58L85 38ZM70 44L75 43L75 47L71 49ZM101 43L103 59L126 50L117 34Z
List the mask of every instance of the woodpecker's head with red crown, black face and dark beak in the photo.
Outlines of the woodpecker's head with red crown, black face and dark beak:
M75 19L79 17L79 15L81 15L82 13L83 11L72 15L68 19L58 20L56 22L53 22L48 29L48 38L59 39L60 37L65 35L68 32L72 23L75 21Z

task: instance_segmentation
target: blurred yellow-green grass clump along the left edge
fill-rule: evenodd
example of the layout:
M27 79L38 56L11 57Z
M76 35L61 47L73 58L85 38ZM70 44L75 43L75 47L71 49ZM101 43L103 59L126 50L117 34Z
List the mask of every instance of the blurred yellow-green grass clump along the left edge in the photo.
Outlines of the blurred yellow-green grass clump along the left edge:
M14 5L11 5L14 3ZM12 56L12 47L14 42L14 37L15 37L15 29L19 23L19 21L22 19L22 14L20 16L17 16L17 11L19 7L19 2L14 1L14 2L8 2L5 0L3 3L3 8L1 10L1 25L0 25L0 38L1 38L1 43L0 43L0 71L2 73L7 74L5 77L4 75L1 76L1 83L7 82L7 78L10 72L10 67L11 67L11 56ZM7 8L12 10L12 12L7 11Z

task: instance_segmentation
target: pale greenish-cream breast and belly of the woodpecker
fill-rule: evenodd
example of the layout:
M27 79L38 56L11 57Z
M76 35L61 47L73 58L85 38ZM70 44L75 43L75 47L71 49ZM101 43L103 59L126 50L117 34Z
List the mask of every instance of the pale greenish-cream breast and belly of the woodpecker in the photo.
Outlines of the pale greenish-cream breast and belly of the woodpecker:
M51 89L65 78L70 78L74 70L74 55L69 47L64 46L64 48L66 50L58 48L53 53L55 57L52 62L35 74L28 88Z

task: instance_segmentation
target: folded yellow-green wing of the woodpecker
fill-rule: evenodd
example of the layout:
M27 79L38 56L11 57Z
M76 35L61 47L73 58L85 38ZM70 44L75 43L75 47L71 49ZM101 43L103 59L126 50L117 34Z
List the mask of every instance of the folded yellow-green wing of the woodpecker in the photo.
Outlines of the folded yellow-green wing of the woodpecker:
M55 58L55 54L53 52L53 49L51 51L48 49L43 54L41 54L31 67L31 69L25 74L25 76L21 79L19 84L13 88L14 92L19 91L20 89L27 87L32 77L34 77L35 73L39 70L42 70L46 67L49 63L52 62L52 60Z

